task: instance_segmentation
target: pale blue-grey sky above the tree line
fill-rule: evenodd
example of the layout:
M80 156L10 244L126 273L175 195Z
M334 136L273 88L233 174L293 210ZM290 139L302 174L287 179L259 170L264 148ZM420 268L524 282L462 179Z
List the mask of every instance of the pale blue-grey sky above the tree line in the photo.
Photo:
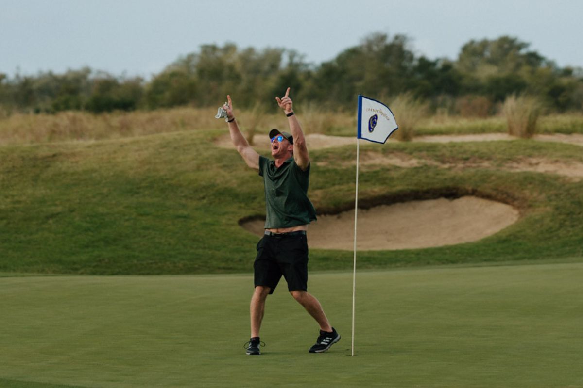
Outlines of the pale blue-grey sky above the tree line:
M226 42L295 49L318 64L375 31L406 34L431 59L511 35L561 67L583 67L582 15L582 0L0 0L0 73L90 66L149 78Z

